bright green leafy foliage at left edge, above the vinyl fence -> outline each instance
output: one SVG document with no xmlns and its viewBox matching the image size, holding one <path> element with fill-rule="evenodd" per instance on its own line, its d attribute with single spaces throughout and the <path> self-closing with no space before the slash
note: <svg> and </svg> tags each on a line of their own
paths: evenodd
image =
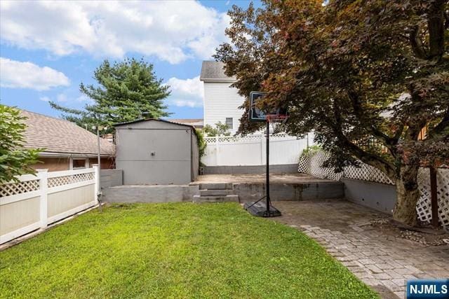
<svg viewBox="0 0 449 299">
<path fill-rule="evenodd" d="M 23 148 L 24 119 L 18 109 L 0 105 L 0 183 L 17 181 L 18 175 L 34 174 L 29 165 L 38 162 L 41 148 Z"/>
</svg>

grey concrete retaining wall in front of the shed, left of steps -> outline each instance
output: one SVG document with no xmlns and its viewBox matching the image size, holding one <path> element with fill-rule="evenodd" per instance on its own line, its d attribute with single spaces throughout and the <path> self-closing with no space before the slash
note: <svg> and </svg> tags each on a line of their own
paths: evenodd
<svg viewBox="0 0 449 299">
<path fill-rule="evenodd" d="M 182 202 L 199 195 L 199 186 L 123 185 L 102 190 L 105 202 Z"/>
</svg>

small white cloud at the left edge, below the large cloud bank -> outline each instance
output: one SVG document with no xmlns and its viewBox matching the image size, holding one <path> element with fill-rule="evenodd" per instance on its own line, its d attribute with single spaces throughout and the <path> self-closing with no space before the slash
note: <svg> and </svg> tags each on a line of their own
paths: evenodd
<svg viewBox="0 0 449 299">
<path fill-rule="evenodd" d="M 32 62 L 20 62 L 0 57 L 0 86 L 2 88 L 30 88 L 48 90 L 70 85 L 69 78 L 50 67 Z"/>
</svg>

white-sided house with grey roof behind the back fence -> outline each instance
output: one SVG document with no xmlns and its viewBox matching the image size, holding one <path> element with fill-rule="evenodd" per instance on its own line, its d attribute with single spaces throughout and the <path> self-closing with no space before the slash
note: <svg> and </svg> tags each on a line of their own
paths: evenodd
<svg viewBox="0 0 449 299">
<path fill-rule="evenodd" d="M 219 121 L 226 123 L 234 134 L 239 129 L 245 101 L 236 88 L 230 87 L 236 81 L 225 75 L 222 62 L 204 61 L 200 80 L 204 83 L 204 125 L 214 126 Z"/>
</svg>

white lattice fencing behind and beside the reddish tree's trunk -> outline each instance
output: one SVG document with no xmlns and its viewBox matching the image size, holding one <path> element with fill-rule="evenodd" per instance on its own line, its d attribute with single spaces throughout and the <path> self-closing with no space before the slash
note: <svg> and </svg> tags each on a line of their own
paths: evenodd
<svg viewBox="0 0 449 299">
<path fill-rule="evenodd" d="M 394 184 L 386 174 L 379 169 L 361 162 L 361 167 L 345 167 L 344 172 L 335 174 L 333 169 L 323 167 L 323 162 L 328 159 L 328 153 L 324 151 L 309 151 L 301 156 L 298 171 L 317 176 L 322 179 L 333 179 L 339 181 L 342 177 L 348 179 L 359 179 L 363 181 L 374 181 L 377 183 Z M 428 168 L 420 168 L 418 172 L 418 188 L 420 199 L 416 209 L 420 221 L 431 221 L 431 195 L 430 174 Z M 437 195 L 438 195 L 438 220 L 445 230 L 449 230 L 449 169 L 438 168 L 436 172 Z"/>
</svg>

